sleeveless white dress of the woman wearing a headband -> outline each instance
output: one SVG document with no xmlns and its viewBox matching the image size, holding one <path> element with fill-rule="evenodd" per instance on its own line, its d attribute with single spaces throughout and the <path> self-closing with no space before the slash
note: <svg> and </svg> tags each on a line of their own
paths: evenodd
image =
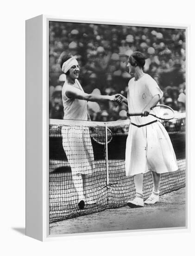
<svg viewBox="0 0 195 256">
<path fill-rule="evenodd" d="M 77 79 L 74 85 L 69 85 L 67 82 L 64 83 L 62 89 L 64 119 L 87 121 L 87 101 L 71 99 L 66 95 L 66 90 L 72 86 L 83 91 Z M 94 153 L 88 127 L 64 125 L 62 127 L 62 136 L 63 149 L 68 158 L 72 175 L 92 174 L 94 169 Z"/>
</svg>

